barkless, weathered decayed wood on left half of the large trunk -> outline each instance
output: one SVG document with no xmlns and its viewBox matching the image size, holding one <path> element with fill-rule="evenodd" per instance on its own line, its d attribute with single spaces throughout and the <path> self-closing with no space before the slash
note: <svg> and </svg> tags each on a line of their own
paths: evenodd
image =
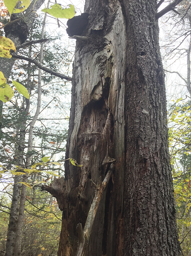
<svg viewBox="0 0 191 256">
<path fill-rule="evenodd" d="M 76 42 L 66 147 L 66 158 L 76 159 L 83 167 L 77 170 L 65 165 L 65 180 L 73 203 L 63 210 L 58 255 L 76 255 L 75 229 L 79 222 L 85 226 L 94 199 L 90 179 L 96 184 L 100 176 L 104 180 L 110 158 L 117 161 L 113 183 L 109 182 L 103 192 L 86 254 L 117 255 L 123 249 L 126 25 L 118 1 L 104 9 L 96 2 L 94 11 L 90 10 L 90 3 L 86 2 L 84 10 L 89 13 L 88 40 Z M 108 29 L 103 33 L 105 22 Z M 81 196 L 75 200 L 78 192 Z M 71 228 L 73 225 L 75 228 Z"/>
</svg>

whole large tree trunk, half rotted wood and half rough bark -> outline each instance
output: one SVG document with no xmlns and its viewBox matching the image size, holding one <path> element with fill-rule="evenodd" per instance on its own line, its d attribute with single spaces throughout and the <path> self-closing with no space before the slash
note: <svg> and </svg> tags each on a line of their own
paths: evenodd
<svg viewBox="0 0 191 256">
<path fill-rule="evenodd" d="M 63 210 L 58 255 L 178 256 L 156 1 L 86 0 L 85 12 L 66 150 L 83 167 L 66 162 L 65 179 L 44 188 Z M 115 170 L 88 238 L 93 182 L 104 180 L 110 159 Z"/>
</svg>

